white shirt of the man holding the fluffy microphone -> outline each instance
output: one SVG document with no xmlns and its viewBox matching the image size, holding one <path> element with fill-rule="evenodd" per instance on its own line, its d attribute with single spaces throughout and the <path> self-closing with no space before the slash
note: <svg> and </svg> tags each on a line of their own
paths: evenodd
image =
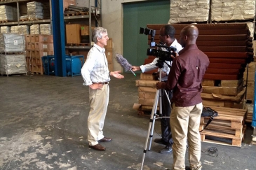
<svg viewBox="0 0 256 170">
<path fill-rule="evenodd" d="M 177 49 L 177 53 L 180 52 L 180 50 L 182 50 L 182 45 L 180 45 L 180 43 L 177 42 L 177 40 L 175 39 L 175 41 L 173 41 L 173 43 L 170 45 L 170 47 L 174 47 Z M 142 71 L 142 73 L 144 73 L 145 71 L 151 71 L 153 69 L 157 69 L 158 66 L 156 66 L 156 63 L 157 63 L 157 60 L 159 60 L 159 58 L 155 58 L 153 60 L 153 62 L 149 63 L 149 64 L 146 64 L 146 65 L 141 65 L 140 66 L 140 69 Z M 166 61 L 167 64 L 169 64 L 171 66 L 172 62 L 170 61 Z M 170 67 L 166 64 L 166 63 L 163 63 L 163 68 L 161 68 L 161 71 L 167 73 L 167 75 L 169 74 L 170 72 Z M 168 76 L 162 78 L 162 81 L 165 81 L 168 79 Z"/>
</svg>

